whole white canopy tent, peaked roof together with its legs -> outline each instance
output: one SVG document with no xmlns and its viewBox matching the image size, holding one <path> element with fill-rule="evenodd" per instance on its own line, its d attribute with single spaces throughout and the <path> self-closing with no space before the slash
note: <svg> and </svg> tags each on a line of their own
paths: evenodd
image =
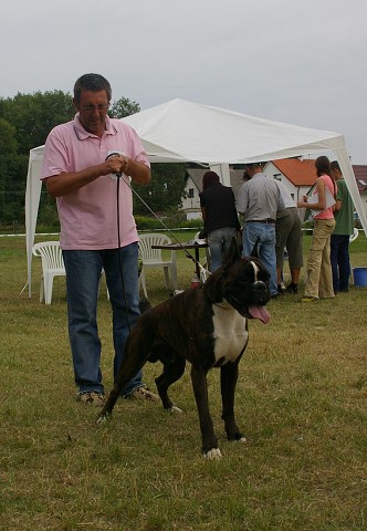
<svg viewBox="0 0 367 531">
<path fill-rule="evenodd" d="M 192 162 L 214 169 L 229 185 L 229 164 L 334 152 L 367 235 L 367 220 L 344 136 L 271 122 L 185 100 L 172 100 L 123 118 L 137 132 L 151 163 Z M 25 191 L 28 285 L 41 194 L 43 146 L 30 152 Z"/>
</svg>

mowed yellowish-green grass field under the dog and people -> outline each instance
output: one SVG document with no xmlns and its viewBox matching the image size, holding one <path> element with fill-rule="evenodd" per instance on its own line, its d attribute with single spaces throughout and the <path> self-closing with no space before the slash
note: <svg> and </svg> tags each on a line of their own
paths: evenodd
<svg viewBox="0 0 367 531">
<path fill-rule="evenodd" d="M 306 259 L 308 237 L 304 243 Z M 367 267 L 363 233 L 350 251 L 353 266 Z M 182 252 L 178 263 L 186 288 L 193 264 Z M 269 325 L 250 322 L 237 389 L 248 442 L 226 441 L 213 369 L 210 407 L 223 458 L 210 462 L 200 455 L 189 367 L 171 388 L 182 415 L 120 400 L 112 420 L 97 426 L 96 410 L 75 402 L 65 280 L 55 279 L 50 306 L 40 304 L 41 268 L 33 259 L 33 296 L 20 294 L 23 238 L 0 238 L 0 271 L 1 530 L 366 529 L 366 288 L 308 304 L 286 295 L 269 304 Z M 160 271 L 148 272 L 147 287 L 154 304 L 169 296 Z M 108 391 L 104 285 L 98 320 Z M 159 372 L 159 364 L 146 365 L 149 387 Z"/>
</svg>

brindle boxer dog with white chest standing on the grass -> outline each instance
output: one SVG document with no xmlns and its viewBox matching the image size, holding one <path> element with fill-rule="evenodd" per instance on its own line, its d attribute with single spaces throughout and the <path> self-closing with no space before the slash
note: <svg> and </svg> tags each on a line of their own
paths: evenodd
<svg viewBox="0 0 367 531">
<path fill-rule="evenodd" d="M 244 441 L 234 418 L 234 389 L 239 362 L 248 344 L 248 319 L 268 323 L 269 273 L 258 258 L 241 258 L 233 241 L 222 268 L 200 288 L 191 288 L 145 312 L 132 329 L 117 382 L 98 423 L 112 414 L 120 391 L 147 362 L 160 361 L 156 378 L 162 406 L 180 409 L 168 397 L 168 387 L 191 363 L 191 381 L 199 412 L 202 451 L 221 457 L 208 405 L 207 373 L 220 367 L 222 419 L 229 440 Z"/>
</svg>

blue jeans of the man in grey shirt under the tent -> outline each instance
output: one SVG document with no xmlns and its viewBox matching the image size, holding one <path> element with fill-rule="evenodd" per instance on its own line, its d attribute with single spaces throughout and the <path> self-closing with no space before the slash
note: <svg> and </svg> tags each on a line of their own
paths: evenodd
<svg viewBox="0 0 367 531">
<path fill-rule="evenodd" d="M 275 223 L 254 223 L 247 221 L 243 230 L 243 256 L 250 257 L 258 242 L 259 258 L 270 273 L 270 294 L 277 294 Z"/>
</svg>

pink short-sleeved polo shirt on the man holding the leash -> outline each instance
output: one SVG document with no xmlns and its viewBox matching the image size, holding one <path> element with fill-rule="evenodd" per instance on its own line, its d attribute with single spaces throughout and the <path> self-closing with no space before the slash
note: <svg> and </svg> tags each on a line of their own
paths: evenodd
<svg viewBox="0 0 367 531">
<path fill-rule="evenodd" d="M 84 129 L 76 114 L 72 122 L 57 125 L 49 134 L 41 179 L 95 166 L 103 163 L 112 152 L 123 152 L 133 160 L 150 167 L 137 133 L 127 124 L 107 116 L 106 129 L 99 138 Z M 76 191 L 57 197 L 56 200 L 62 249 L 96 250 L 118 247 L 115 175 L 101 176 Z M 133 216 L 133 194 L 123 179 L 119 180 L 119 228 L 122 247 L 138 241 Z"/>
</svg>

